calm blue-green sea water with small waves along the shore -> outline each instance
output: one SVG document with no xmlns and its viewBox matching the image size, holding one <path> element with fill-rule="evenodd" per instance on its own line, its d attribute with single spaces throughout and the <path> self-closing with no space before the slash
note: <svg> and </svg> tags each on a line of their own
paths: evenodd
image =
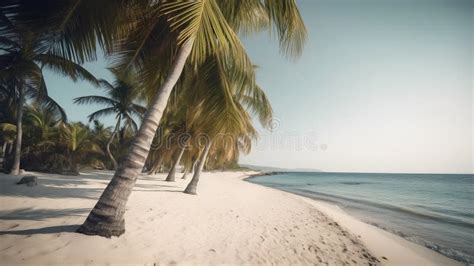
<svg viewBox="0 0 474 266">
<path fill-rule="evenodd" d="M 364 222 L 474 264 L 474 175 L 288 172 L 247 180 L 332 202 Z"/>
</svg>

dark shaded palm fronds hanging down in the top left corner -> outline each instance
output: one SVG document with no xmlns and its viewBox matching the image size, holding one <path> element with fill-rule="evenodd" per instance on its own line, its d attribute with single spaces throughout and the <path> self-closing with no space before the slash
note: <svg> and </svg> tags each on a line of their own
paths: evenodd
<svg viewBox="0 0 474 266">
<path fill-rule="evenodd" d="M 133 0 L 4 0 L 0 9 L 17 24 L 48 35 L 51 53 L 79 63 L 97 58 L 99 44 L 112 47 Z"/>
</svg>

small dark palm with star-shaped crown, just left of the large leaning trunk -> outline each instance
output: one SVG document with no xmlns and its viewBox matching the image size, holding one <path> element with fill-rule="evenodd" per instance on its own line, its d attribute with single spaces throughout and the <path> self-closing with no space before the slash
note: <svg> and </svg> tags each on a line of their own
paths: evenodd
<svg viewBox="0 0 474 266">
<path fill-rule="evenodd" d="M 139 98 L 140 90 L 138 83 L 134 80 L 131 73 L 123 74 L 117 70 L 112 69 L 111 72 L 115 75 L 114 84 L 110 84 L 106 80 L 100 80 L 100 84 L 105 89 L 108 97 L 99 95 L 82 96 L 74 99 L 76 104 L 101 104 L 106 107 L 90 114 L 89 121 L 99 119 L 102 116 L 115 115 L 115 128 L 106 145 L 106 151 L 109 159 L 113 163 L 113 169 L 118 168 L 110 145 L 117 135 L 122 121 L 125 125 L 131 127 L 133 130 L 138 129 L 138 125 L 134 117 L 141 118 L 146 111 L 146 108 L 137 104 L 136 100 Z"/>
</svg>

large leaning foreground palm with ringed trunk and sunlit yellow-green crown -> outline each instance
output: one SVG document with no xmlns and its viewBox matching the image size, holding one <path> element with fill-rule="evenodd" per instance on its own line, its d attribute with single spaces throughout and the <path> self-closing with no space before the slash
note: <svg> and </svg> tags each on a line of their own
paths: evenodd
<svg viewBox="0 0 474 266">
<path fill-rule="evenodd" d="M 253 1 L 247 2 L 251 5 Z M 181 76 L 188 57 L 190 67 L 192 65 L 198 67 L 209 55 L 218 54 L 222 67 L 225 67 L 226 62 L 232 61 L 240 73 L 253 71 L 250 60 L 234 31 L 238 30 L 239 25 L 246 24 L 242 14 L 244 10 L 240 5 L 232 6 L 233 12 L 221 10 L 230 8 L 229 6 L 231 5 L 225 1 L 202 0 L 154 2 L 151 8 L 142 9 L 141 12 L 150 12 L 141 16 L 143 21 L 130 31 L 130 41 L 124 42 L 126 45 L 121 50 L 125 52 L 120 53 L 119 57 L 125 63 L 121 66 L 134 66 L 140 69 L 149 86 L 161 81 L 152 77 L 165 72 L 162 65 L 170 66 L 168 74 L 164 76 L 153 97 L 135 141 L 122 161 L 122 167 L 117 169 L 78 232 L 110 237 L 119 236 L 125 231 L 123 217 L 126 202 L 142 171 L 171 90 Z M 294 1 L 268 0 L 263 4 L 255 1 L 250 10 L 256 11 L 252 14 L 261 12 L 269 18 L 272 25 L 277 28 L 283 47 L 296 47 L 296 51 L 300 50 L 304 40 L 304 27 Z M 251 23 L 253 21 L 247 25 Z M 137 38 L 140 38 L 140 41 L 137 41 Z M 159 43 L 156 44 L 156 40 L 159 40 Z M 135 49 L 130 49 L 130 46 L 134 46 Z M 291 54 L 294 50 L 286 51 Z M 163 64 L 157 64 L 159 61 L 155 58 L 170 61 L 165 60 Z M 150 62 L 154 62 L 159 68 L 153 67 Z"/>
</svg>

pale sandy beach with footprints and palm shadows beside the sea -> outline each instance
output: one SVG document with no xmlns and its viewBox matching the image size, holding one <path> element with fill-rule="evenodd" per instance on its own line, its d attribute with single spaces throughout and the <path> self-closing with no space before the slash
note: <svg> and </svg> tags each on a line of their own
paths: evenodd
<svg viewBox="0 0 474 266">
<path fill-rule="evenodd" d="M 242 181 L 249 173 L 188 180 L 144 176 L 126 213 L 126 233 L 74 233 L 111 178 L 37 174 L 15 185 L 0 174 L 0 261 L 9 264 L 450 265 L 453 260 L 362 223 L 335 206 Z"/>
</svg>

